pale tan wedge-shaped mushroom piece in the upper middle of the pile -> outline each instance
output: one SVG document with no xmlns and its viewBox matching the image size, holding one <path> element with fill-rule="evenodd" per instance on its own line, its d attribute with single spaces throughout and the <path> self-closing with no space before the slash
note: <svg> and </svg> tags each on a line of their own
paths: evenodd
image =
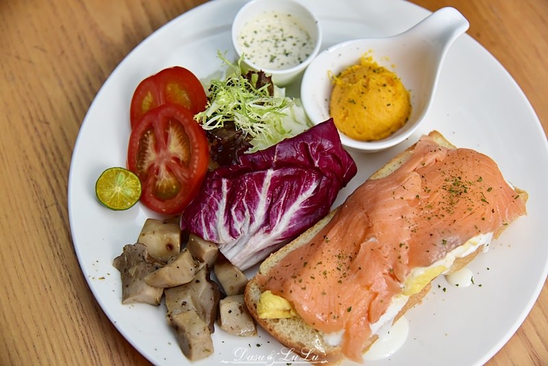
<svg viewBox="0 0 548 366">
<path fill-rule="evenodd" d="M 155 287 L 179 286 L 179 284 L 192 281 L 196 273 L 205 265 L 206 263 L 193 258 L 192 254 L 185 248 L 176 256 L 169 258 L 164 267 L 149 273 L 145 277 L 145 281 Z"/>
</svg>

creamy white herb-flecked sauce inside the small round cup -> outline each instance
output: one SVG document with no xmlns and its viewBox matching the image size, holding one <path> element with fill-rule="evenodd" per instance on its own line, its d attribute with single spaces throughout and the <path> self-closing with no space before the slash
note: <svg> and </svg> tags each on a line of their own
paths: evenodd
<svg viewBox="0 0 548 366">
<path fill-rule="evenodd" d="M 264 69 L 290 69 L 314 50 L 310 34 L 294 16 L 269 11 L 245 23 L 238 34 L 245 58 Z"/>
</svg>

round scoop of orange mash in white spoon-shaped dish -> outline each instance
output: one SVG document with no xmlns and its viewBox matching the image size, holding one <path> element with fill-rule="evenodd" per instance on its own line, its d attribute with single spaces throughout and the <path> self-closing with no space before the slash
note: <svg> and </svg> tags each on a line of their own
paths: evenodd
<svg viewBox="0 0 548 366">
<path fill-rule="evenodd" d="M 371 56 L 333 76 L 329 112 L 343 134 L 360 141 L 386 138 L 409 119 L 408 90 L 392 71 Z"/>
</svg>

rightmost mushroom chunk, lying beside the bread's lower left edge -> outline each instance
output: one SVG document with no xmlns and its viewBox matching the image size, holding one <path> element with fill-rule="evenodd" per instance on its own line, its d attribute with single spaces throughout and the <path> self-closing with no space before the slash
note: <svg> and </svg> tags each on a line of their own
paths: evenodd
<svg viewBox="0 0 548 366">
<path fill-rule="evenodd" d="M 245 306 L 244 295 L 227 296 L 219 302 L 219 326 L 240 337 L 257 335 L 255 322 Z"/>
</svg>

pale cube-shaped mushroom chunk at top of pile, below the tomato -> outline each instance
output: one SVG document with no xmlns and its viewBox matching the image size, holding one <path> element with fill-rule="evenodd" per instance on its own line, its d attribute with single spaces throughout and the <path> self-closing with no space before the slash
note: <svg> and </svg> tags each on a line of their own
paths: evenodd
<svg viewBox="0 0 548 366">
<path fill-rule="evenodd" d="M 181 251 L 181 229 L 177 223 L 147 219 L 137 241 L 147 245 L 151 256 L 167 262 Z"/>
</svg>

